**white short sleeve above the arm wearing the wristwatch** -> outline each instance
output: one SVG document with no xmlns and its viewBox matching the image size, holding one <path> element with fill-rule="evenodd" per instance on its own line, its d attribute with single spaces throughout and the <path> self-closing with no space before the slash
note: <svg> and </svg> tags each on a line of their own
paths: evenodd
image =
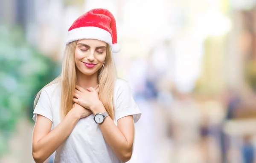
<svg viewBox="0 0 256 163">
<path fill-rule="evenodd" d="M 116 116 L 119 120 L 122 117 L 133 115 L 134 123 L 136 123 L 141 116 L 139 107 L 134 101 L 134 98 L 131 93 L 131 88 L 127 82 L 122 81 L 122 84 L 117 90 L 116 98 Z"/>
</svg>

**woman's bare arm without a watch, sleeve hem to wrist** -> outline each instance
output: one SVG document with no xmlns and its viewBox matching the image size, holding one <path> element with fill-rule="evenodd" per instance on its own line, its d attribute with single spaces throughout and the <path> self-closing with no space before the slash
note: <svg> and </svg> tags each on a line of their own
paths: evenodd
<svg viewBox="0 0 256 163">
<path fill-rule="evenodd" d="M 51 130 L 52 121 L 39 115 L 35 123 L 32 138 L 32 155 L 36 163 L 43 163 L 67 139 L 80 119 L 74 112 L 69 112 L 55 129 Z"/>
</svg>

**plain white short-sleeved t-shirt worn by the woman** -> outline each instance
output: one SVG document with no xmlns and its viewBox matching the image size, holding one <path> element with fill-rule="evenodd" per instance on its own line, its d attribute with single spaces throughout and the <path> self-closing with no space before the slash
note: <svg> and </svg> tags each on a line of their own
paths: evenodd
<svg viewBox="0 0 256 163">
<path fill-rule="evenodd" d="M 34 110 L 33 120 L 37 114 L 52 121 L 52 129 L 60 123 L 60 83 L 47 86 L 41 92 Z M 125 80 L 117 79 L 113 92 L 115 105 L 114 123 L 122 117 L 133 115 L 134 123 L 140 119 L 140 110 Z M 94 115 L 78 121 L 67 140 L 55 152 L 54 163 L 121 163 L 102 136 Z"/>
</svg>

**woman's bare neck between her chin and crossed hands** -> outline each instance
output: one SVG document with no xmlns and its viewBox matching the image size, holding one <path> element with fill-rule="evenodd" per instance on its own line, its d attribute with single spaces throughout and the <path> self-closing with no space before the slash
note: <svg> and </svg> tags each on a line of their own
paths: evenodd
<svg viewBox="0 0 256 163">
<path fill-rule="evenodd" d="M 92 75 L 85 75 L 81 73 L 81 71 L 76 71 L 76 78 L 78 85 L 81 86 L 83 89 L 89 88 L 89 87 L 96 87 L 98 84 L 98 73 L 94 73 Z"/>
</svg>

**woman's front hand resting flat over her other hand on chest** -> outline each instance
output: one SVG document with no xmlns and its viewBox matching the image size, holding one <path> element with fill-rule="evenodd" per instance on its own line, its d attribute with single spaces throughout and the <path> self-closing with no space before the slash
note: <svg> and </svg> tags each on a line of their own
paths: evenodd
<svg viewBox="0 0 256 163">
<path fill-rule="evenodd" d="M 101 103 L 99 100 L 99 88 L 94 89 L 93 87 L 83 89 L 81 86 L 76 85 L 73 101 L 86 109 L 90 109 L 93 106 Z"/>
</svg>

